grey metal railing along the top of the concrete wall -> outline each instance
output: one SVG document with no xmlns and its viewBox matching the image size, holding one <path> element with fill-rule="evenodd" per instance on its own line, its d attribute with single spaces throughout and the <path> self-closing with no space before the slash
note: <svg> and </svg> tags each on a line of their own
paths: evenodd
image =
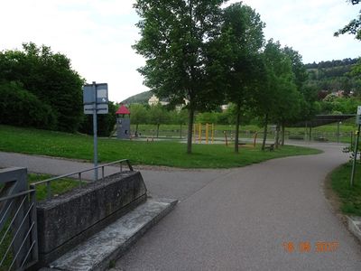
<svg viewBox="0 0 361 271">
<path fill-rule="evenodd" d="M 106 168 L 106 166 L 112 166 L 114 164 L 119 164 L 119 172 L 120 173 L 123 172 L 123 164 L 126 164 L 128 166 L 128 168 L 129 168 L 129 170 L 133 172 L 133 167 L 130 164 L 129 160 L 128 159 L 122 159 L 122 160 L 118 160 L 116 162 L 112 162 L 112 163 L 108 163 L 108 164 L 101 164 L 101 165 L 98 165 L 97 167 L 92 167 L 92 168 L 82 170 L 82 171 L 79 171 L 79 172 L 63 174 L 63 175 L 52 177 L 52 178 L 49 178 L 49 179 L 46 179 L 46 180 L 43 180 L 43 181 L 39 181 L 39 182 L 32 182 L 30 184 L 30 188 L 35 190 L 37 185 L 46 184 L 46 187 L 47 187 L 46 188 L 46 190 L 47 190 L 47 199 L 50 199 L 51 198 L 51 182 L 52 181 L 57 181 L 57 180 L 60 180 L 60 179 L 63 179 L 63 178 L 67 178 L 67 177 L 77 175 L 78 180 L 79 180 L 79 187 L 81 187 L 83 173 L 96 171 L 97 169 L 101 169 L 101 180 L 104 181 L 104 178 L 106 177 L 105 176 L 105 168 Z M 97 176 L 97 174 L 96 174 L 96 176 Z M 95 181 L 97 181 L 97 179 Z"/>
</svg>

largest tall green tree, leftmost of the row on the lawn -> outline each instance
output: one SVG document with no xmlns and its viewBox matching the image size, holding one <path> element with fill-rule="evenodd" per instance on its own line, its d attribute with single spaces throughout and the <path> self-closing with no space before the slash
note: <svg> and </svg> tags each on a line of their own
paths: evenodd
<svg viewBox="0 0 361 271">
<path fill-rule="evenodd" d="M 219 101 L 212 83 L 221 73 L 210 51 L 221 22 L 220 5 L 226 0 L 137 0 L 137 23 L 142 35 L 134 49 L 146 58 L 139 71 L 144 83 L 171 104 L 190 101 L 187 153 L 191 153 L 192 126 L 196 110 Z M 211 75 L 211 76 L 210 76 Z M 213 81 L 211 79 L 214 79 Z"/>
</svg>

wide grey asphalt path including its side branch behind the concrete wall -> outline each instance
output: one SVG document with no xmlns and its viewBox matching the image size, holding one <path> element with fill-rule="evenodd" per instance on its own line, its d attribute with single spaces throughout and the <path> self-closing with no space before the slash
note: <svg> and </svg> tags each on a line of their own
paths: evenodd
<svg viewBox="0 0 361 271">
<path fill-rule="evenodd" d="M 327 173 L 347 155 L 340 145 L 311 146 L 324 153 L 232 170 L 142 171 L 154 196 L 180 203 L 114 270 L 361 270 L 361 246 L 323 194 Z M 11 165 L 56 174 L 90 166 L 0 153 L 0 166 Z M 291 242 L 288 252 L 283 245 Z M 338 248 L 316 252 L 318 242 Z M 310 251 L 301 252 L 300 243 Z"/>
</svg>

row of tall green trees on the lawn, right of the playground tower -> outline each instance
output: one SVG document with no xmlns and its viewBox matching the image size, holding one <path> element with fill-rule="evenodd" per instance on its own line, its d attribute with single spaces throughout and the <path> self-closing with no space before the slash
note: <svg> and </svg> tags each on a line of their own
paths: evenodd
<svg viewBox="0 0 361 271">
<path fill-rule="evenodd" d="M 265 42 L 264 23 L 254 9 L 242 3 L 224 8 L 225 3 L 138 0 L 134 5 L 142 35 L 134 49 L 146 59 L 139 69 L 145 85 L 173 105 L 190 101 L 188 153 L 196 112 L 233 103 L 237 153 L 242 116 L 261 117 L 264 136 L 267 124 L 275 123 L 282 137 L 284 126 L 310 118 L 316 109 L 317 93 L 304 84 L 308 75 L 301 55 L 280 42 Z"/>
</svg>

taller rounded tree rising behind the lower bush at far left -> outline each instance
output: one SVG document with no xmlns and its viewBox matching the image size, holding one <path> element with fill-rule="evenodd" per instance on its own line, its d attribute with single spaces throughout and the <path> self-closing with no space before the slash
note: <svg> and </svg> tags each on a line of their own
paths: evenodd
<svg viewBox="0 0 361 271">
<path fill-rule="evenodd" d="M 83 79 L 69 58 L 48 46 L 24 43 L 23 51 L 0 52 L 0 81 L 16 81 L 51 107 L 61 131 L 75 132 L 82 120 Z M 26 113 L 26 112 L 24 112 Z"/>
</svg>

